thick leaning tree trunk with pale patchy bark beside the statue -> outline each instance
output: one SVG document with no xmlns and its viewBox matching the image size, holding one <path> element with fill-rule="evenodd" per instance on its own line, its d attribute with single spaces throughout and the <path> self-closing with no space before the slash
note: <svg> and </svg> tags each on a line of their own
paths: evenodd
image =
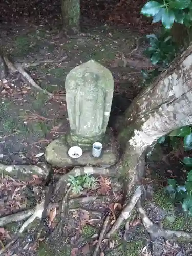
<svg viewBox="0 0 192 256">
<path fill-rule="evenodd" d="M 192 124 L 192 44 L 144 89 L 125 112 L 119 134 L 121 174 L 130 191 L 142 175 L 143 152 L 161 136 Z M 138 173 L 138 171 L 140 172 Z"/>
</svg>

